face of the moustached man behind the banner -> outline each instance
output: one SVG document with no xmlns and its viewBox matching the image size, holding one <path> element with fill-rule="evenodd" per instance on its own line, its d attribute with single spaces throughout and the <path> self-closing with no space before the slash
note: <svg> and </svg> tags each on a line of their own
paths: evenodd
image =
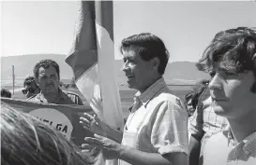
<svg viewBox="0 0 256 165">
<path fill-rule="evenodd" d="M 38 68 L 38 86 L 44 94 L 56 94 L 58 92 L 59 76 L 52 65 L 49 68 Z"/>
</svg>

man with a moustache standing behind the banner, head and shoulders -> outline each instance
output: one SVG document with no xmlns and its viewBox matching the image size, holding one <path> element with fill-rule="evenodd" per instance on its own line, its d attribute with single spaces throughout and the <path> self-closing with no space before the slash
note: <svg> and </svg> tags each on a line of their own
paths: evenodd
<svg viewBox="0 0 256 165">
<path fill-rule="evenodd" d="M 34 67 L 34 76 L 41 91 L 27 101 L 36 103 L 83 104 L 77 94 L 60 89 L 60 69 L 53 60 L 42 60 Z"/>
</svg>

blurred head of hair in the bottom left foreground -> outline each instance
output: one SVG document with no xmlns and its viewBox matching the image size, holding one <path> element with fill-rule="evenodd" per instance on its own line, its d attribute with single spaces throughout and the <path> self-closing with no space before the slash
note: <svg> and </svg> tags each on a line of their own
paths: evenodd
<svg viewBox="0 0 256 165">
<path fill-rule="evenodd" d="M 2 165 L 87 165 L 96 158 L 36 117 L 1 103 Z M 97 162 L 96 162 L 97 161 Z"/>
</svg>

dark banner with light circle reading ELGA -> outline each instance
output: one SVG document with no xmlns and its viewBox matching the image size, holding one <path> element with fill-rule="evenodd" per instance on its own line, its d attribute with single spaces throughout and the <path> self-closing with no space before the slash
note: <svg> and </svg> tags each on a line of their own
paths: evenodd
<svg viewBox="0 0 256 165">
<path fill-rule="evenodd" d="M 22 100 L 1 98 L 1 105 L 8 104 L 15 110 L 23 111 L 40 121 L 60 131 L 68 141 L 81 146 L 84 144 L 84 137 L 93 136 L 93 133 L 83 129 L 79 123 L 79 117 L 83 113 L 94 114 L 88 105 L 58 105 L 52 103 L 30 103 Z"/>
</svg>

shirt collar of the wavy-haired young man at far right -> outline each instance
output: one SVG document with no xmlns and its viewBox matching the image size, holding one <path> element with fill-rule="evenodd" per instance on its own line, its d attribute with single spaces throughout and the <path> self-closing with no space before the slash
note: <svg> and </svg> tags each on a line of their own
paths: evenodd
<svg viewBox="0 0 256 165">
<path fill-rule="evenodd" d="M 225 135 L 226 138 L 228 138 L 228 145 L 233 144 L 233 145 L 239 145 L 243 143 L 243 151 L 246 156 L 248 156 L 252 151 L 256 151 L 256 131 L 248 135 L 242 142 L 239 144 L 235 144 L 233 140 L 233 134 L 231 131 L 231 128 L 227 128 L 226 130 L 222 131 L 223 134 Z"/>
</svg>

